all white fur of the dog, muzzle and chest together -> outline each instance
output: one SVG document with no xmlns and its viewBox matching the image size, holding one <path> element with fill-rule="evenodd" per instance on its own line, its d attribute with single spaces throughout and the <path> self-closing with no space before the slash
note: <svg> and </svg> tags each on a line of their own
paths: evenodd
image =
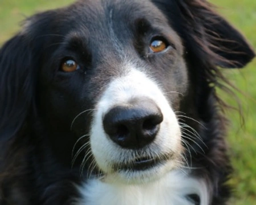
<svg viewBox="0 0 256 205">
<path fill-rule="evenodd" d="M 160 87 L 143 69 L 125 68 L 125 75 L 117 77 L 105 89 L 96 105 L 90 133 L 92 154 L 97 166 L 103 171 L 101 179 L 91 178 L 78 187 L 82 199 L 76 205 L 193 205 L 186 196 L 197 194 L 201 205 L 209 204 L 206 182 L 189 177 L 177 169 L 180 159 L 170 158 L 161 165 L 143 171 L 112 170 L 112 165 L 133 160 L 134 151 L 123 149 L 107 136 L 103 129 L 103 117 L 115 105 L 131 99 L 151 99 L 164 114 L 155 141 L 144 148 L 144 153 L 160 156 L 176 153 L 180 156 L 181 131 L 177 118 Z"/>
</svg>

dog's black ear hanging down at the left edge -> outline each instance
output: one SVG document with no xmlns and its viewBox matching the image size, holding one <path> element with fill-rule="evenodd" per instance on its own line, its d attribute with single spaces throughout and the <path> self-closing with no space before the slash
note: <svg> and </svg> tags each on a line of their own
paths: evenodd
<svg viewBox="0 0 256 205">
<path fill-rule="evenodd" d="M 0 142 L 14 137 L 35 113 L 35 87 L 44 36 L 54 10 L 35 14 L 0 50 Z"/>
</svg>

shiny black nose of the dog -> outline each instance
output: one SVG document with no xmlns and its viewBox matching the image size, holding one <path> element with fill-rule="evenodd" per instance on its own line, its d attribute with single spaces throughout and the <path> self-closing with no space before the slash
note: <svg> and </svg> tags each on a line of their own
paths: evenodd
<svg viewBox="0 0 256 205">
<path fill-rule="evenodd" d="M 117 145 L 139 149 L 155 139 L 162 120 L 161 110 L 155 102 L 136 99 L 109 110 L 103 118 L 103 126 L 105 133 Z"/>
</svg>

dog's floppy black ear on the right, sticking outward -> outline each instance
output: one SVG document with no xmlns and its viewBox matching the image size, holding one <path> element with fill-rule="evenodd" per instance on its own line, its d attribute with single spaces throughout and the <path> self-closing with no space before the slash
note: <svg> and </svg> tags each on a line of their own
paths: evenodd
<svg viewBox="0 0 256 205">
<path fill-rule="evenodd" d="M 186 34 L 194 40 L 193 50 L 204 52 L 213 64 L 241 68 L 254 58 L 245 38 L 204 0 L 178 0 Z M 189 40 L 190 40 L 189 39 Z M 205 56 L 205 55 L 201 55 Z"/>
</svg>

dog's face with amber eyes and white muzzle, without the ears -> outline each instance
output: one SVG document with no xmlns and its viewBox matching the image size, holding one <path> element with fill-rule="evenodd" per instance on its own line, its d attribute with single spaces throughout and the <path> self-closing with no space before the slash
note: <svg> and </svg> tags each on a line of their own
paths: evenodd
<svg viewBox="0 0 256 205">
<path fill-rule="evenodd" d="M 84 136 L 109 178 L 173 169 L 182 151 L 175 110 L 189 85 L 181 39 L 148 1 L 89 1 L 72 14 L 40 68 L 39 110 L 51 130 Z"/>
</svg>

